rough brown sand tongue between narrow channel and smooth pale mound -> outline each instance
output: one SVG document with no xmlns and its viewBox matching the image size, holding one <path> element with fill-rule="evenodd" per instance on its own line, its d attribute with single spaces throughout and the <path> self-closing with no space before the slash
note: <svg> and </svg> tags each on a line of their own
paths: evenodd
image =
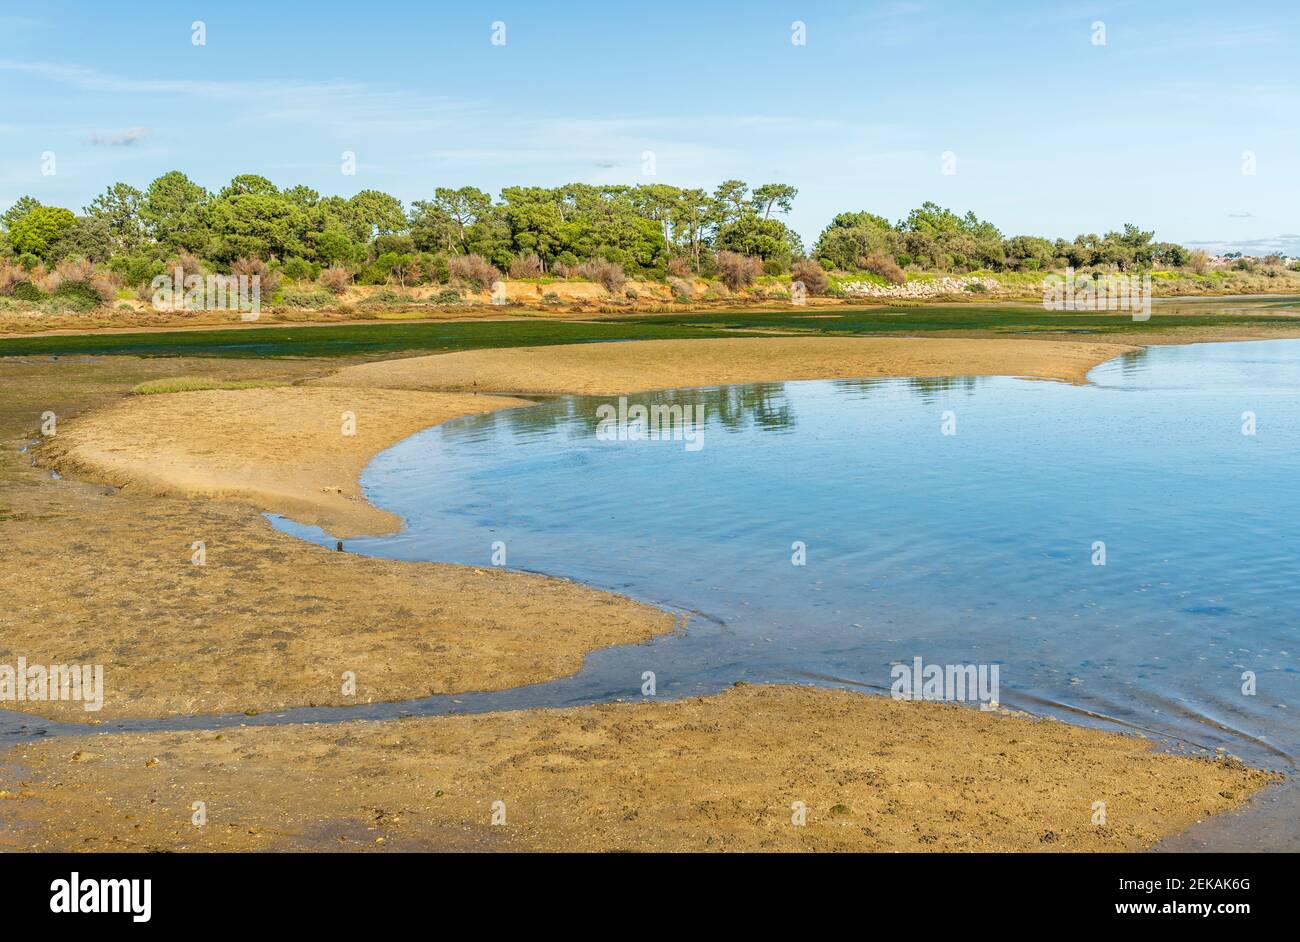
<svg viewBox="0 0 1300 942">
<path fill-rule="evenodd" d="M 66 722 L 506 690 L 676 625 L 562 579 L 332 552 L 239 505 L 99 491 L 74 520 L 13 530 L 0 551 L 0 663 L 103 664 L 105 698 L 95 713 L 0 708 Z M 194 541 L 205 565 L 191 563 Z"/>
</svg>

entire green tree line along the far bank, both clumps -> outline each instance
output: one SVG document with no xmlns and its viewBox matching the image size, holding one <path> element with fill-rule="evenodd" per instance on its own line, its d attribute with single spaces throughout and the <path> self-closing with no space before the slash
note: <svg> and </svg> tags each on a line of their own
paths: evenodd
<svg viewBox="0 0 1300 942">
<path fill-rule="evenodd" d="M 889 222 L 870 212 L 836 216 L 811 251 L 785 223 L 798 191 L 785 183 L 750 187 L 725 181 L 711 192 L 662 183 L 641 186 L 436 187 L 404 207 L 378 190 L 321 196 L 307 186 L 280 188 L 242 174 L 211 192 L 183 173 L 144 190 L 114 183 L 81 213 L 23 196 L 0 216 L 0 255 L 32 268 L 84 259 L 127 283 L 148 281 L 169 259 L 194 256 L 217 270 L 259 259 L 291 278 L 322 269 L 361 282 L 446 281 L 458 257 L 521 275 L 576 274 L 593 262 L 634 277 L 714 275 L 724 253 L 746 256 L 767 274 L 812 260 L 827 270 L 913 266 L 968 272 L 1109 266 L 1183 266 L 1193 253 L 1121 233 L 1072 242 L 1006 238 L 974 213 L 933 203 Z"/>
</svg>

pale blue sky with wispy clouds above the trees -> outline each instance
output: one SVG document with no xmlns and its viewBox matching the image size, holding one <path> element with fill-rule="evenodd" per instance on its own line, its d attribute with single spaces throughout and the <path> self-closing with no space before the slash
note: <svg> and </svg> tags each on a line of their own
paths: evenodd
<svg viewBox="0 0 1300 942">
<path fill-rule="evenodd" d="M 1297 40 L 1295 0 L 4 3 L 0 205 L 172 169 L 407 203 L 734 177 L 797 186 L 807 243 L 932 199 L 1008 235 L 1132 221 L 1300 253 Z"/>
</svg>

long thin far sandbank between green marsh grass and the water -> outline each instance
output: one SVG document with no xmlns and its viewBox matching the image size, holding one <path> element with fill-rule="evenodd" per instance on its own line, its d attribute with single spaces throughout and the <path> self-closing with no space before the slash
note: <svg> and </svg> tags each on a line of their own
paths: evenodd
<svg viewBox="0 0 1300 942">
<path fill-rule="evenodd" d="M 473 350 L 350 366 L 321 386 L 558 395 L 870 377 L 1018 376 L 1083 382 L 1118 343 L 937 338 L 723 338 Z"/>
</svg>

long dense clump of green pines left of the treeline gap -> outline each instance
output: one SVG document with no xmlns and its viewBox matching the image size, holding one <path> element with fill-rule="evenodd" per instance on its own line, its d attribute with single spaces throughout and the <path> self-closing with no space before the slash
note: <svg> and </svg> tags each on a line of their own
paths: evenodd
<svg viewBox="0 0 1300 942">
<path fill-rule="evenodd" d="M 296 282 L 334 269 L 361 285 L 403 287 L 451 281 L 481 287 L 502 272 L 568 278 L 594 264 L 618 268 L 602 281 L 621 283 L 625 275 L 664 278 L 673 260 L 707 272 L 714 246 L 784 272 L 802 247 L 775 214 L 789 212 L 796 192 L 784 183 L 750 192 L 740 181 L 711 195 L 664 185 L 572 183 L 506 187 L 494 200 L 474 187 L 436 187 L 408 212 L 377 190 L 321 196 L 243 174 L 213 194 L 170 172 L 143 191 L 114 183 L 81 216 L 25 196 L 0 217 L 0 256 L 25 257 L 29 266 L 81 257 L 107 265 L 131 287 L 176 259 L 216 273 L 261 260 Z"/>
</svg>

